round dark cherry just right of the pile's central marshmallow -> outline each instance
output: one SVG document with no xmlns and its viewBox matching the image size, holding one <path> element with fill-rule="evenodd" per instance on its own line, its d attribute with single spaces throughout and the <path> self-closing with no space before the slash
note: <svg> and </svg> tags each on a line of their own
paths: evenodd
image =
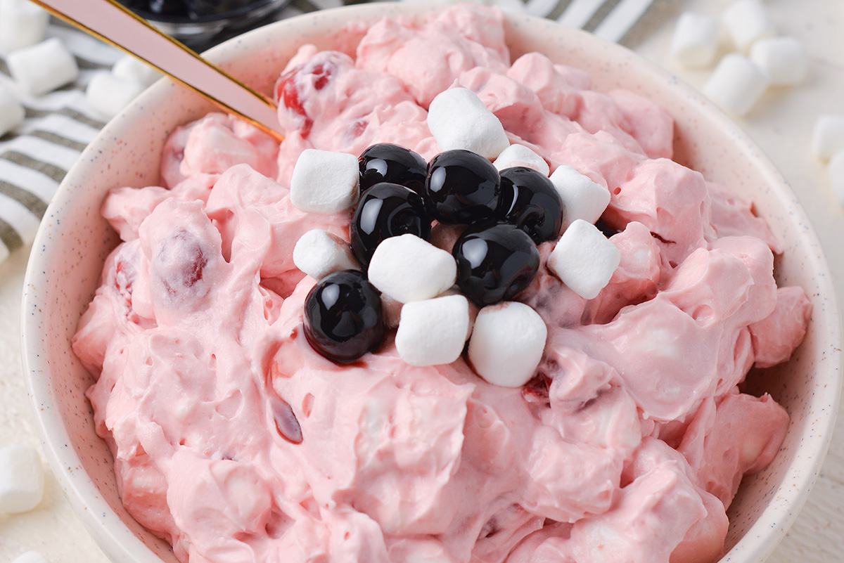
<svg viewBox="0 0 844 563">
<path fill-rule="evenodd" d="M 452 255 L 457 260 L 457 285 L 481 307 L 516 297 L 539 268 L 536 244 L 509 223 L 470 225 L 457 239 Z"/>
</svg>

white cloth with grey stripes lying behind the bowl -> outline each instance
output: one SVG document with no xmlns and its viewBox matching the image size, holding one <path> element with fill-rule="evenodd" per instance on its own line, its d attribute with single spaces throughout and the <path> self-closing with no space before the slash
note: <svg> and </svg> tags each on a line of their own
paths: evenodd
<svg viewBox="0 0 844 563">
<path fill-rule="evenodd" d="M 366 0 L 363 0 L 366 1 Z M 587 29 L 603 39 L 621 40 L 653 0 L 477 0 L 503 9 L 558 19 Z M 299 13 L 333 8 L 361 0 L 292 0 L 278 13 L 287 18 Z M 441 3 L 452 3 L 442 0 Z M 48 37 L 60 38 L 76 56 L 78 80 L 40 97 L 20 93 L 0 57 L 0 83 L 18 95 L 24 105 L 24 123 L 0 137 L 0 261 L 25 249 L 47 204 L 66 171 L 84 147 L 105 125 L 85 99 L 84 89 L 95 72 L 111 68 L 122 51 L 52 20 Z"/>
</svg>

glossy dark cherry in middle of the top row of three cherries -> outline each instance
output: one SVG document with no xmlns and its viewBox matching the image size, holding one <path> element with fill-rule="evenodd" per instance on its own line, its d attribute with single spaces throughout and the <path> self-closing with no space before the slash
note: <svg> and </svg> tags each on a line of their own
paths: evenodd
<svg viewBox="0 0 844 563">
<path fill-rule="evenodd" d="M 441 223 L 468 224 L 494 218 L 500 194 L 498 170 L 479 154 L 446 151 L 428 165 L 425 202 Z"/>
</svg>

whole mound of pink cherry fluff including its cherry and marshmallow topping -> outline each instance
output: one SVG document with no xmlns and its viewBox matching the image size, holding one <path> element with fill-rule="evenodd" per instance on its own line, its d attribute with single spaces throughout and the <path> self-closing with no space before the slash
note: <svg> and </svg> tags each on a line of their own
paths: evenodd
<svg viewBox="0 0 844 563">
<path fill-rule="evenodd" d="M 744 393 L 811 304 L 673 121 L 459 6 L 350 25 L 212 113 L 73 351 L 122 502 L 192 563 L 711 563 L 788 416 Z"/>
</svg>

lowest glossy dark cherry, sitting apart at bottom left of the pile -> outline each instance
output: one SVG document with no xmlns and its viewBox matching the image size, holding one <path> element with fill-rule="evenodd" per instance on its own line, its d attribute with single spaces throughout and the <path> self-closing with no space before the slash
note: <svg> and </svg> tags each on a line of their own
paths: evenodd
<svg viewBox="0 0 844 563">
<path fill-rule="evenodd" d="M 334 362 L 354 362 L 375 350 L 384 338 L 378 290 L 357 270 L 323 277 L 305 298 L 305 337 Z"/>
</svg>

